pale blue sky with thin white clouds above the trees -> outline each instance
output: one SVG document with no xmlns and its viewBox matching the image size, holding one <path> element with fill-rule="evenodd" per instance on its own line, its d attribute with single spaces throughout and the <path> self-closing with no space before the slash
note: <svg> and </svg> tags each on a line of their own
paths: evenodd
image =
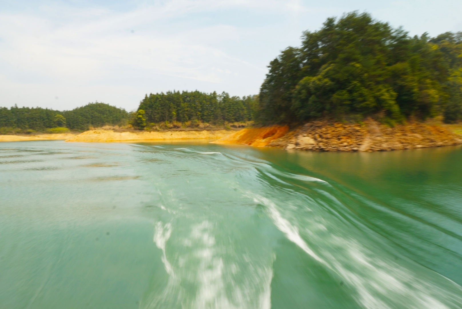
<svg viewBox="0 0 462 309">
<path fill-rule="evenodd" d="M 136 110 L 145 94 L 257 94 L 303 31 L 358 10 L 411 35 L 462 31 L 461 0 L 0 0 L 0 106 Z"/>
</svg>

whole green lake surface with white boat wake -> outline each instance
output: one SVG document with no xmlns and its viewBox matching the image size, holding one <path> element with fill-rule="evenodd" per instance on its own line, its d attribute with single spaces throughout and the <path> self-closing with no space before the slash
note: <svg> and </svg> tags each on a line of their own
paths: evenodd
<svg viewBox="0 0 462 309">
<path fill-rule="evenodd" d="M 0 144 L 0 308 L 462 308 L 462 148 Z"/>
</svg>

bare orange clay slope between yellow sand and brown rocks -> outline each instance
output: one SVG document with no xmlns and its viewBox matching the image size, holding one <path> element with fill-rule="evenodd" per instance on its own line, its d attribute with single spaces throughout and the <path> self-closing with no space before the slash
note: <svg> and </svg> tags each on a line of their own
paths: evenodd
<svg viewBox="0 0 462 309">
<path fill-rule="evenodd" d="M 285 136 L 289 131 L 288 126 L 274 125 L 265 128 L 242 129 L 236 133 L 219 139 L 217 144 L 245 144 L 255 147 L 265 147 L 277 138 Z"/>
</svg>

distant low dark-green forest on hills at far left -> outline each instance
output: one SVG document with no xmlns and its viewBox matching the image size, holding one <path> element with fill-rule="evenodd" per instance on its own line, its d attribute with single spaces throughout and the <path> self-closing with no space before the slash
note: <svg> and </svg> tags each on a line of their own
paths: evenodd
<svg viewBox="0 0 462 309">
<path fill-rule="evenodd" d="M 124 124 L 128 112 L 104 103 L 89 103 L 72 111 L 13 106 L 0 107 L 0 133 L 46 131 L 56 127 L 87 130 L 90 126 Z"/>
</svg>

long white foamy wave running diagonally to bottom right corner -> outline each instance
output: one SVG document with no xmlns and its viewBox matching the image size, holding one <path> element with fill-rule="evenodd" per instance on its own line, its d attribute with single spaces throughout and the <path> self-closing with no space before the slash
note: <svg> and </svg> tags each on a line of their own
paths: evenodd
<svg viewBox="0 0 462 309">
<path fill-rule="evenodd" d="M 460 308 L 462 288 L 449 279 L 435 273 L 422 279 L 421 275 L 403 268 L 386 256 L 379 258 L 365 247 L 367 244 L 336 235 L 331 226 L 323 226 L 329 232 L 327 237 L 326 233 L 321 237 L 309 231 L 315 224 L 305 227 L 307 235 L 311 235 L 310 241 L 316 245 L 315 252 L 302 238 L 296 220 L 291 222 L 285 218 L 276 203 L 252 192 L 247 192 L 247 196 L 267 207 L 274 225 L 289 241 L 351 286 L 356 291 L 356 300 L 364 308 Z M 438 285 L 432 284 L 435 281 Z"/>
</svg>

